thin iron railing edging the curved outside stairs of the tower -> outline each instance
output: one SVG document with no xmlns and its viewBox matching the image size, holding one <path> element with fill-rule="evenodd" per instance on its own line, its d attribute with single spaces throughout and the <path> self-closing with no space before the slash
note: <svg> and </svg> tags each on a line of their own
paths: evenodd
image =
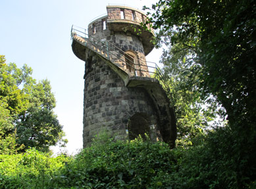
<svg viewBox="0 0 256 189">
<path fill-rule="evenodd" d="M 78 30 L 78 28 L 80 30 Z M 86 33 L 86 29 L 72 25 L 71 38 L 73 40 L 77 40 L 77 39 L 75 39 L 75 36 L 82 37 L 82 39 L 84 40 L 84 45 L 90 46 L 89 44 L 91 43 L 91 45 L 93 45 L 94 47 L 97 47 L 97 49 L 99 49 L 103 53 L 107 54 L 107 56 L 105 58 L 107 58 L 110 61 L 114 59 L 114 58 L 112 58 L 113 56 L 116 59 L 121 60 L 120 57 L 122 57 L 122 56 L 124 56 L 124 54 L 126 54 L 126 52 L 122 51 L 122 49 L 120 49 L 119 47 L 116 47 L 116 45 L 114 45 L 113 43 L 109 43 L 109 41 L 107 41 L 106 39 L 99 40 L 92 36 L 89 37 L 89 35 Z M 90 48 L 90 49 L 95 51 L 95 49 L 92 49 L 92 48 Z M 126 54 L 126 56 L 130 56 L 130 55 Z M 155 79 L 161 81 L 161 83 L 164 85 L 166 91 L 168 91 L 168 95 L 170 95 L 170 98 L 172 98 L 172 93 L 170 93 L 170 87 L 168 86 L 168 83 L 165 79 L 165 75 L 161 71 L 161 68 L 159 68 L 159 66 L 157 66 L 157 64 L 155 62 L 138 60 L 132 56 L 130 56 L 130 58 L 133 60 L 136 60 L 138 62 L 145 63 L 145 64 L 134 64 L 134 62 L 132 62 L 132 60 L 130 60 L 129 58 L 127 60 L 130 61 L 130 64 L 129 64 L 129 62 L 127 62 L 127 60 L 125 61 L 125 63 L 128 64 L 134 70 L 134 76 L 136 76 L 136 71 L 147 72 L 147 73 L 149 73 L 149 75 L 154 74 L 153 77 L 155 77 Z M 124 61 L 124 60 L 121 60 L 121 61 Z M 149 66 L 149 64 L 151 66 Z M 147 70 L 136 69 L 136 66 L 147 67 Z M 153 70 L 153 71 L 151 71 L 151 70 Z"/>
</svg>

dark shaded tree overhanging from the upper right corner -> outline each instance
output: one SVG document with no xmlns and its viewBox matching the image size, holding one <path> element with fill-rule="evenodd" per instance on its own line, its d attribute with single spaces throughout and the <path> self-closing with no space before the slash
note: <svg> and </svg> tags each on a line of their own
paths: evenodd
<svg viewBox="0 0 256 189">
<path fill-rule="evenodd" d="M 157 39 L 170 45 L 177 66 L 195 66 L 202 96 L 217 97 L 230 125 L 255 125 L 254 1 L 159 1 L 152 8 Z"/>
</svg>

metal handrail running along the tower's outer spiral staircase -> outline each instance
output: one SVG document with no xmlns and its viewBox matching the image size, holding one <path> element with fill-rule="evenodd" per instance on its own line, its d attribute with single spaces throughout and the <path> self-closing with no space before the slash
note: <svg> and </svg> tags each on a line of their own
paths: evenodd
<svg viewBox="0 0 256 189">
<path fill-rule="evenodd" d="M 80 28 L 80 29 L 84 30 L 85 32 L 84 32 L 84 31 L 77 30 L 77 29 L 75 29 L 74 27 Z M 78 33 L 82 33 L 82 35 L 84 35 L 84 36 L 77 34 L 76 31 L 77 31 Z M 101 41 L 101 40 L 99 40 L 99 39 L 96 39 L 95 37 L 92 37 L 92 36 L 89 37 L 89 35 L 86 33 L 86 29 L 81 28 L 81 27 L 79 27 L 79 26 L 74 26 L 74 25 L 72 25 L 72 28 L 71 28 L 71 38 L 72 38 L 72 39 L 74 39 L 74 35 L 77 35 L 77 36 L 79 36 L 79 37 L 84 38 L 85 41 L 86 41 L 86 40 L 87 40 L 87 41 L 90 41 L 90 43 L 91 43 L 92 45 L 94 45 L 95 47 L 99 47 L 99 49 L 101 49 L 101 50 L 107 51 L 107 52 L 106 52 L 106 53 L 107 53 L 107 58 L 108 58 L 109 60 L 110 60 L 109 54 L 111 54 L 111 55 L 115 56 L 116 58 L 118 58 L 118 56 L 116 56 L 116 54 L 112 53 L 111 51 L 115 51 L 115 53 L 117 53 L 117 54 L 119 54 L 119 55 L 121 55 L 121 56 L 123 56 L 123 55 L 125 54 L 125 52 L 122 51 L 122 49 L 120 49 L 119 47 L 116 47 L 116 45 L 114 45 L 113 43 L 109 43 L 108 41 L 105 41 L 105 43 L 104 43 L 103 41 Z M 118 49 L 118 51 L 116 51 L 115 49 Z M 123 54 L 119 53 L 119 51 L 121 51 Z M 130 56 L 129 54 L 127 54 L 127 55 Z M 138 59 L 135 59 L 135 58 L 132 57 L 132 56 L 130 56 L 130 57 L 131 57 L 132 59 L 134 59 L 134 60 L 138 60 Z M 120 59 L 120 58 L 118 58 L 118 59 Z M 134 64 L 134 62 L 132 62 L 132 60 L 128 60 L 128 61 L 130 61 L 132 64 Z M 168 93 L 169 93 L 169 95 L 170 95 L 170 98 L 172 98 L 172 93 L 170 93 L 170 87 L 168 86 L 168 83 L 167 83 L 167 81 L 166 81 L 166 79 L 165 79 L 165 75 L 164 75 L 163 72 L 161 71 L 161 68 L 159 68 L 159 66 L 157 66 L 157 64 L 156 64 L 155 62 L 148 62 L 148 61 L 143 61 L 143 60 L 140 60 L 140 62 L 145 62 L 145 65 L 142 65 L 142 66 L 147 67 L 147 70 L 141 70 L 141 69 L 138 70 L 138 69 L 136 69 L 136 67 L 133 67 L 132 64 L 129 64 L 128 62 L 126 62 L 126 63 L 128 63 L 128 65 L 129 65 L 131 68 L 133 68 L 134 71 L 140 71 L 140 72 L 147 72 L 147 73 L 149 73 L 149 74 L 155 74 L 155 79 L 157 79 L 157 80 L 159 80 L 159 81 L 161 81 L 161 82 L 163 83 L 163 85 L 165 86 L 166 91 L 168 91 Z M 147 66 L 147 63 L 153 64 L 154 66 Z M 141 64 L 134 64 L 134 65 L 140 65 L 140 66 L 141 66 Z M 153 68 L 153 69 L 155 69 L 155 72 L 149 71 L 148 68 Z"/>
</svg>

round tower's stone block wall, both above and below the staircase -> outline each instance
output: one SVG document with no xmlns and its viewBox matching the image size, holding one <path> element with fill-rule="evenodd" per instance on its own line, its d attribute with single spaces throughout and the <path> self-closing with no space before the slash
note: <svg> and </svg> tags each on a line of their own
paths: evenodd
<svg viewBox="0 0 256 189">
<path fill-rule="evenodd" d="M 121 14 L 124 14 L 123 19 Z M 150 75 L 144 46 L 149 43 L 147 36 L 152 33 L 148 31 L 139 36 L 132 33 L 134 28 L 130 27 L 131 24 L 139 26 L 145 18 L 145 14 L 136 9 L 107 6 L 107 16 L 91 22 L 88 35 L 89 39 L 97 41 L 99 46 L 109 45 L 109 56 L 116 66 L 130 76 L 137 75 L 147 79 Z M 115 22 L 116 20 L 122 24 Z M 130 29 L 126 30 L 129 27 Z M 141 37 L 147 41 L 142 41 Z M 118 74 L 107 66 L 105 61 L 108 60 L 99 58 L 100 55 L 90 48 L 86 49 L 85 53 L 84 148 L 90 145 L 91 138 L 101 130 L 107 130 L 120 139 L 132 139 L 138 133 L 148 132 L 152 140 L 162 140 L 160 134 L 157 134 L 157 110 L 147 91 L 140 87 L 126 87 Z M 134 55 L 132 60 L 134 68 L 138 69 L 136 72 L 127 64 L 128 53 Z M 128 133 L 126 130 L 129 130 Z"/>
</svg>

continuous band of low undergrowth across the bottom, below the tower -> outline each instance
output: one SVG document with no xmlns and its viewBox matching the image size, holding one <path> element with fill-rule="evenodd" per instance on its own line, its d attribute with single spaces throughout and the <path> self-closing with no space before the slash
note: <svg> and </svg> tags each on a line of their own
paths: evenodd
<svg viewBox="0 0 256 189">
<path fill-rule="evenodd" d="M 170 150 L 162 142 L 100 135 L 74 158 L 33 149 L 0 155 L 0 188 L 255 188 L 250 170 L 240 177 L 246 162 L 222 154 L 232 139 L 230 131 L 217 129 L 197 146 Z"/>
</svg>

